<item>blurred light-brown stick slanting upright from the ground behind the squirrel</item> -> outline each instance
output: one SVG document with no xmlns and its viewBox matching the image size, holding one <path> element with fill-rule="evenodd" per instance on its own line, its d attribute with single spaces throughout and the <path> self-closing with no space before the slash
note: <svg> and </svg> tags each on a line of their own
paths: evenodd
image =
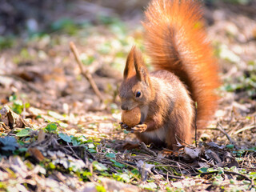
<svg viewBox="0 0 256 192">
<path fill-rule="evenodd" d="M 94 93 L 98 96 L 100 102 L 103 102 L 104 98 L 102 97 L 101 92 L 98 90 L 98 86 L 94 82 L 94 79 L 92 78 L 90 72 L 88 70 L 83 70 L 83 68 L 82 68 L 82 62 L 79 59 L 78 50 L 77 50 L 76 46 L 74 45 L 74 42 L 70 42 L 70 50 L 74 54 L 74 58 L 75 58 L 76 62 L 78 63 L 81 74 L 88 80 L 88 82 L 90 82 L 90 86 L 93 88 Z"/>
</svg>

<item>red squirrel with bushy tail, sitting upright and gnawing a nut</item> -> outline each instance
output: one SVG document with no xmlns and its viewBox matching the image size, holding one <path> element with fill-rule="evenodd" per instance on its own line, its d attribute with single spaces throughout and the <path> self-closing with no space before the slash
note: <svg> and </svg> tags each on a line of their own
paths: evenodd
<svg viewBox="0 0 256 192">
<path fill-rule="evenodd" d="M 140 141 L 173 150 L 178 142 L 191 142 L 195 123 L 202 129 L 212 118 L 218 65 L 198 2 L 152 0 L 145 15 L 146 53 L 155 70 L 149 73 L 142 53 L 130 50 L 119 87 L 121 108 L 140 108 L 141 121 L 131 128 Z"/>
</svg>

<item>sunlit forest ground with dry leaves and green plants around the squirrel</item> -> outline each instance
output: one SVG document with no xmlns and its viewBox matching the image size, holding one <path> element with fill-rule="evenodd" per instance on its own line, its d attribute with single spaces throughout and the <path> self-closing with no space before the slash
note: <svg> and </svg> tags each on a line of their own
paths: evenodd
<svg viewBox="0 0 256 192">
<path fill-rule="evenodd" d="M 143 144 L 122 150 L 136 139 L 118 124 L 126 55 L 134 44 L 144 52 L 146 3 L 2 2 L 1 190 L 255 191 L 256 3 L 204 4 L 222 78 L 218 111 L 197 146 L 169 155 Z"/>
</svg>

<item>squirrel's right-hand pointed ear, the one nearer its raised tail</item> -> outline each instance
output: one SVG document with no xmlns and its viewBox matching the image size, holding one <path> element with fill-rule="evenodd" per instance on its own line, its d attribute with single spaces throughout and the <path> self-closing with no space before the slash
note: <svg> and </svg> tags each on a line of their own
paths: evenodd
<svg viewBox="0 0 256 192">
<path fill-rule="evenodd" d="M 145 62 L 142 58 L 142 52 L 140 50 L 137 50 L 134 47 L 134 67 L 136 70 L 136 77 L 141 82 L 146 82 L 147 85 L 150 84 L 150 78 L 149 74 L 146 69 Z"/>
</svg>

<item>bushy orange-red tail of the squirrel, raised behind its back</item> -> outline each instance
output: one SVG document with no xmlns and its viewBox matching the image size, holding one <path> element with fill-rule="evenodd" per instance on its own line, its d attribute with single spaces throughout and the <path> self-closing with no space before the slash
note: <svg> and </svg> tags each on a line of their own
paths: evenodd
<svg viewBox="0 0 256 192">
<path fill-rule="evenodd" d="M 156 70 L 169 70 L 198 103 L 197 126 L 214 114 L 218 65 L 203 29 L 200 5 L 193 0 L 153 0 L 146 10 L 146 50 Z"/>
</svg>

